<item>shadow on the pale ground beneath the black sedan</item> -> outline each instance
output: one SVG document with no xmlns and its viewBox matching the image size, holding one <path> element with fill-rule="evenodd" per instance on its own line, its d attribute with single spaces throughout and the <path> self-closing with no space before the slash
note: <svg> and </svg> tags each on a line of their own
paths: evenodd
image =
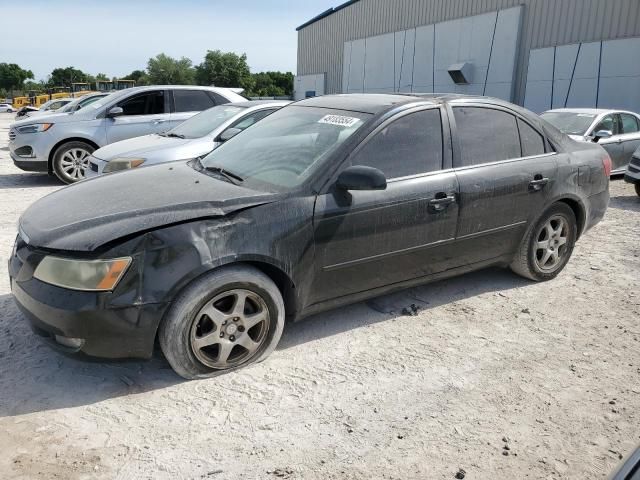
<svg viewBox="0 0 640 480">
<path fill-rule="evenodd" d="M 389 321 L 414 310 L 426 311 L 528 284 L 506 270 L 488 269 L 403 290 L 287 325 L 278 350 Z M 403 309 L 408 310 L 403 313 Z M 11 295 L 0 296 L 0 312 L 0 418 L 90 405 L 184 381 L 171 370 L 159 349 L 150 361 L 87 362 L 62 355 L 41 342 Z"/>
</svg>

